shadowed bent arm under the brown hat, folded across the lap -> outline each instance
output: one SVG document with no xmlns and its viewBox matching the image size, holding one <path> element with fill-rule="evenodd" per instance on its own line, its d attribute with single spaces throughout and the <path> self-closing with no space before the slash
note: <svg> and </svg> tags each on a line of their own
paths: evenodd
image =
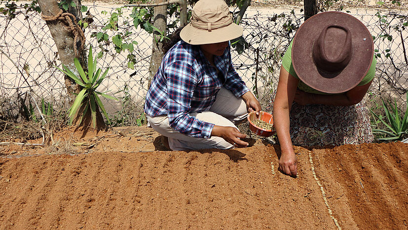
<svg viewBox="0 0 408 230">
<path fill-rule="evenodd" d="M 372 80 L 365 85 L 356 86 L 346 93 L 334 95 L 306 93 L 297 90 L 295 102 L 299 105 L 322 104 L 332 106 L 352 106 L 363 100 L 364 95 L 366 95 L 367 90 L 370 88 L 371 82 Z"/>
</svg>

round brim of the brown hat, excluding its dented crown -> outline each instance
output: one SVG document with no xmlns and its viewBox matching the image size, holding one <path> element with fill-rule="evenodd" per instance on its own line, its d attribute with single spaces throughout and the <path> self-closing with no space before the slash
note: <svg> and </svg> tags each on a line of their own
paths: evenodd
<svg viewBox="0 0 408 230">
<path fill-rule="evenodd" d="M 335 77 L 319 71 L 312 55 L 313 43 L 331 24 L 346 25 L 352 36 L 350 62 Z M 357 18 L 343 12 L 324 12 L 310 17 L 297 30 L 292 45 L 292 63 L 297 77 L 308 86 L 324 93 L 343 93 L 357 86 L 366 76 L 373 50 L 371 34 Z"/>
</svg>

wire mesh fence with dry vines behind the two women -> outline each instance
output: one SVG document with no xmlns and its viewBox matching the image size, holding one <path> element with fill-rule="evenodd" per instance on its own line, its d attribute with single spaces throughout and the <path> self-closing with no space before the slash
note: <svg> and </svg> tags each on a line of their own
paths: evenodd
<svg viewBox="0 0 408 230">
<path fill-rule="evenodd" d="M 101 32 L 109 18 L 109 13 L 101 12 L 113 12 L 119 6 L 87 6 L 93 15 L 93 23 L 85 30 L 86 48 L 90 43 L 95 52 L 104 50 L 104 55 L 98 59 L 98 67 L 103 70 L 110 67 L 109 77 L 98 89 L 119 98 L 118 102 L 105 100 L 103 103 L 114 125 L 135 125 L 136 118 L 143 111 L 148 90 L 151 34 L 135 29 L 133 23 L 119 26 L 123 34 L 138 42 L 132 53 L 137 61 L 134 69 L 130 69 L 127 66 L 128 51 L 117 53 L 109 42 L 100 44 L 91 38 L 92 33 Z M 130 13 L 131 10 L 127 11 Z M 303 22 L 299 9 L 278 9 L 277 12 L 265 13 L 257 8 L 248 10 L 241 21 L 246 48 L 242 53 L 232 49 L 235 69 L 259 96 L 266 111 L 271 109 L 270 95 L 277 86 L 281 57 Z M 378 96 L 396 99 L 400 110 L 405 110 L 408 30 L 404 23 L 408 21 L 407 13 L 374 8 L 354 9 L 349 13 L 360 19 L 374 37 L 377 66 L 370 99 L 374 101 Z M 68 109 L 64 76 L 54 67 L 61 66 L 57 49 L 38 13 L 17 8 L 15 17 L 0 16 L 0 63 L 0 118 L 21 118 L 24 106 L 29 108 L 33 98 L 44 98 L 54 107 Z"/>
</svg>

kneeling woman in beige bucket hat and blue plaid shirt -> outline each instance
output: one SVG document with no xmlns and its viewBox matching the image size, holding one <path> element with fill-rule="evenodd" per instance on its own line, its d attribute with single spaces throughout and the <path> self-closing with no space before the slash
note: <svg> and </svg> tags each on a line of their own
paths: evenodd
<svg viewBox="0 0 408 230">
<path fill-rule="evenodd" d="M 145 113 L 171 150 L 248 146 L 235 124 L 261 108 L 232 66 L 229 40 L 242 32 L 223 0 L 199 0 L 181 40 L 166 50 Z"/>
</svg>

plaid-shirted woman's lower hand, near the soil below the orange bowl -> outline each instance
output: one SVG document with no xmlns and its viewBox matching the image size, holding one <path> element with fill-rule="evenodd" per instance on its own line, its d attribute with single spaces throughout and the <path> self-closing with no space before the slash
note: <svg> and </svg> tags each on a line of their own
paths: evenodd
<svg viewBox="0 0 408 230">
<path fill-rule="evenodd" d="M 249 145 L 240 139 L 245 138 L 247 135 L 240 133 L 235 127 L 214 125 L 211 136 L 222 137 L 226 142 L 235 147 L 247 147 Z"/>
</svg>

